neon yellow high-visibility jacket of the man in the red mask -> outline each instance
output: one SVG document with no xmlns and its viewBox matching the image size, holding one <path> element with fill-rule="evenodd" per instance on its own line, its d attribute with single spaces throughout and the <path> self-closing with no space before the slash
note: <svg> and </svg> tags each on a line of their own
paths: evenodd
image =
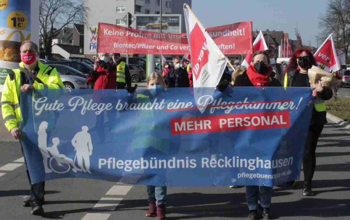
<svg viewBox="0 0 350 220">
<path fill-rule="evenodd" d="M 34 82 L 35 89 L 62 89 L 63 83 L 59 77 L 56 68 L 51 68 L 38 62 L 39 71 L 37 77 L 45 84 Z M 24 68 L 23 62 L 20 67 Z M 22 73 L 24 74 L 24 73 Z M 1 95 L 1 112 L 5 126 L 10 132 L 13 128 L 19 128 L 21 122 L 21 108 L 20 108 L 20 87 L 21 87 L 21 70 L 13 69 L 12 72 L 6 76 L 5 83 Z M 60 94 L 61 92 L 59 92 Z"/>
</svg>

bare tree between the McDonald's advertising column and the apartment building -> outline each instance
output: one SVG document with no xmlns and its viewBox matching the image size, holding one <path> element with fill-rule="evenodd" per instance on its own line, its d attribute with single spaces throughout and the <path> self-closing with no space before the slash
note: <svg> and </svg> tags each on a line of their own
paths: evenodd
<svg viewBox="0 0 350 220">
<path fill-rule="evenodd" d="M 53 37 L 64 27 L 84 23 L 90 10 L 84 0 L 40 0 L 39 7 L 42 44 L 51 58 Z"/>
</svg>

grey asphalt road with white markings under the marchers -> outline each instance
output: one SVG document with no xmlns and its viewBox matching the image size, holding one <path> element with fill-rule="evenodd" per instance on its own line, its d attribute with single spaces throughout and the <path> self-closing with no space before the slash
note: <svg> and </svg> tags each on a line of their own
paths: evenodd
<svg viewBox="0 0 350 220">
<path fill-rule="evenodd" d="M 330 121 L 329 121 L 330 122 Z M 8 134 L 7 134 L 8 135 Z M 22 207 L 29 193 L 18 142 L 0 142 L 1 220 L 150 220 L 145 186 L 67 178 L 46 183 L 45 214 L 34 216 Z M 275 219 L 350 219 L 350 132 L 330 122 L 317 148 L 314 197 L 294 188 L 274 187 Z M 303 178 L 303 175 L 301 175 Z M 169 187 L 167 219 L 246 219 L 245 188 Z"/>
</svg>

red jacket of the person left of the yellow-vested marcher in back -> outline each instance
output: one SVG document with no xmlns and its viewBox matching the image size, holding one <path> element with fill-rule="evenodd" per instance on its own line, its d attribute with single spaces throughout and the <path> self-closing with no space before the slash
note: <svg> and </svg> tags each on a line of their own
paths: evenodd
<svg viewBox="0 0 350 220">
<path fill-rule="evenodd" d="M 96 71 L 92 71 L 92 75 L 86 79 L 86 82 L 94 83 L 93 89 L 116 89 L 117 72 L 98 67 Z"/>
</svg>

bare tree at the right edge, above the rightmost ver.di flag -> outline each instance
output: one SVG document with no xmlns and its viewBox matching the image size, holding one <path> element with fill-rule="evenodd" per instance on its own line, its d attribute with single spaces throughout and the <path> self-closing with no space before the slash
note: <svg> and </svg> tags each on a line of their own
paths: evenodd
<svg viewBox="0 0 350 220">
<path fill-rule="evenodd" d="M 329 0 L 326 13 L 318 19 L 318 27 L 322 30 L 321 40 L 325 40 L 331 33 L 335 41 L 337 54 L 345 54 L 348 61 L 350 46 L 350 0 Z"/>
</svg>

